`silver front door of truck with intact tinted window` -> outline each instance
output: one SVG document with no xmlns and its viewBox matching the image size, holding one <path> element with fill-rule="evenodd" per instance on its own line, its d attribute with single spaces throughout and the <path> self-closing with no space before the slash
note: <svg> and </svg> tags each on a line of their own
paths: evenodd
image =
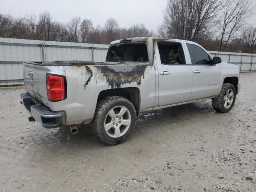
<svg viewBox="0 0 256 192">
<path fill-rule="evenodd" d="M 190 100 L 215 96 L 220 83 L 220 69 L 210 64 L 210 55 L 200 46 L 187 43 L 192 68 L 192 94 Z"/>
</svg>

